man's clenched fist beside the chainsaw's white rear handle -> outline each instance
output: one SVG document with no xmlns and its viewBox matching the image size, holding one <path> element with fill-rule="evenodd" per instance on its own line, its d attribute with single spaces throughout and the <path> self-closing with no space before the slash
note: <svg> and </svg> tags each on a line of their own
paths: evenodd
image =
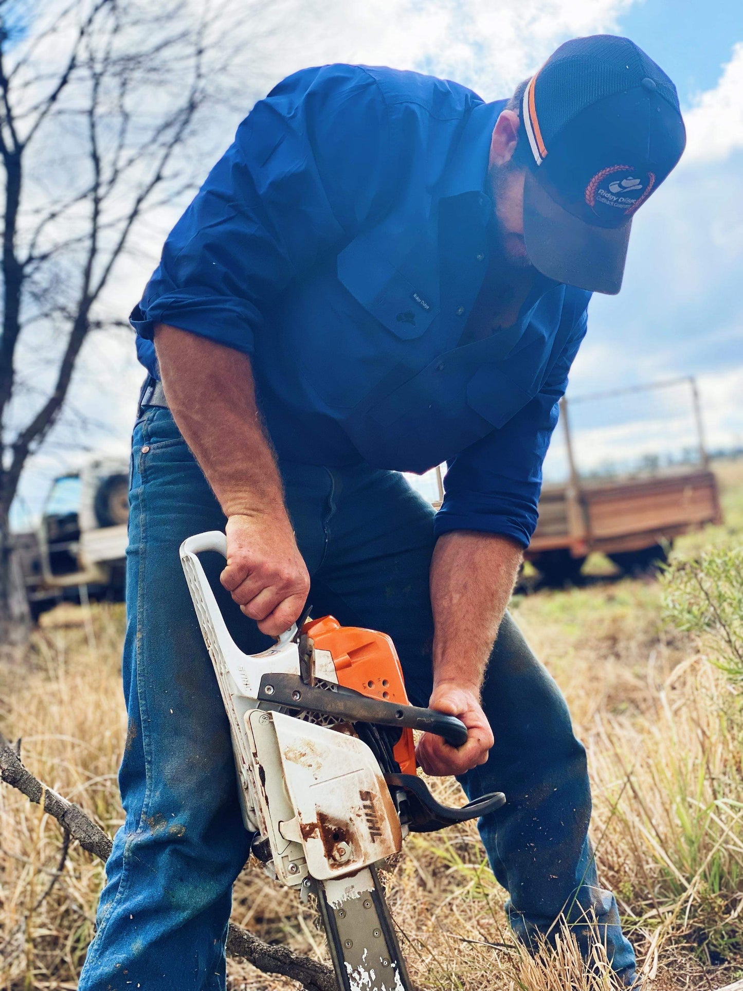
<svg viewBox="0 0 743 991">
<path fill-rule="evenodd" d="M 288 517 L 230 516 L 220 581 L 262 633 L 287 630 L 304 608 L 310 584 Z"/>
</svg>

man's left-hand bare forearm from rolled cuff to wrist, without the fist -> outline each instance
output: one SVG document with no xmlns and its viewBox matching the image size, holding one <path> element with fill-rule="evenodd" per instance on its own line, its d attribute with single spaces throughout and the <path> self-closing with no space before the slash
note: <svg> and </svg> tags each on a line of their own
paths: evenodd
<svg viewBox="0 0 743 991">
<path fill-rule="evenodd" d="M 156 330 L 155 347 L 173 419 L 225 515 L 282 510 L 250 358 L 165 324 Z"/>
</svg>

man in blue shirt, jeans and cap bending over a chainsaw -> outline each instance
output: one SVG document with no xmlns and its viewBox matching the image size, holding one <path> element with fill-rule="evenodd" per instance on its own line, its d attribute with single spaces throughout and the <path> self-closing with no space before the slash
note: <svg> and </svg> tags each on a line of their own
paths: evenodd
<svg viewBox="0 0 743 991">
<path fill-rule="evenodd" d="M 241 125 L 132 318 L 150 376 L 132 462 L 127 818 L 80 988 L 224 988 L 250 837 L 177 556 L 221 528 L 221 604 L 243 649 L 308 595 L 314 615 L 390 634 L 411 701 L 470 731 L 460 750 L 424 735 L 423 769 L 459 775 L 471 798 L 506 795 L 480 834 L 517 936 L 534 945 L 563 918 L 633 983 L 586 836 L 584 748 L 504 610 L 590 291 L 619 290 L 632 216 L 684 143 L 673 83 L 608 36 L 563 45 L 508 102 L 330 65 L 285 79 Z M 434 514 L 397 473 L 445 460 Z"/>
</svg>

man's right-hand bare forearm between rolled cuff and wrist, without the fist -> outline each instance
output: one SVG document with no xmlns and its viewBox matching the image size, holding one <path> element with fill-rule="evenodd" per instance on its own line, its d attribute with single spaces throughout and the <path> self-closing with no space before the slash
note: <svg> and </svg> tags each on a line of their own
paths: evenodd
<svg viewBox="0 0 743 991">
<path fill-rule="evenodd" d="M 435 688 L 451 683 L 479 693 L 521 559 L 521 548 L 500 534 L 457 530 L 439 538 L 431 562 Z"/>
</svg>

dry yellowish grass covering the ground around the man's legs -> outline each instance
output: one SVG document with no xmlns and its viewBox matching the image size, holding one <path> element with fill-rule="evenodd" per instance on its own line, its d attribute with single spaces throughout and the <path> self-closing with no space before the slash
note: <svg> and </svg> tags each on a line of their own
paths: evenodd
<svg viewBox="0 0 743 991">
<path fill-rule="evenodd" d="M 743 470 L 732 466 L 728 477 L 737 529 Z M 743 729 L 729 682 L 690 635 L 663 626 L 657 583 L 540 593 L 514 606 L 587 744 L 599 873 L 617 893 L 654 991 L 715 988 L 743 976 Z M 94 606 L 92 626 L 83 619 L 82 610 L 57 609 L 23 667 L 0 670 L 0 728 L 22 736 L 34 773 L 113 831 L 122 819 L 115 774 L 125 733 L 123 612 Z M 456 801 L 455 783 L 437 787 Z M 0 789 L 2 988 L 76 986 L 102 868 L 71 849 L 39 904 L 59 855 L 58 826 Z M 537 960 L 513 943 L 474 826 L 406 841 L 388 898 L 423 987 L 610 986 L 605 961 L 586 976 L 569 938 Z M 236 886 L 233 918 L 265 938 L 324 953 L 312 912 L 257 869 Z M 233 988 L 287 987 L 234 961 L 229 972 Z"/>
</svg>

